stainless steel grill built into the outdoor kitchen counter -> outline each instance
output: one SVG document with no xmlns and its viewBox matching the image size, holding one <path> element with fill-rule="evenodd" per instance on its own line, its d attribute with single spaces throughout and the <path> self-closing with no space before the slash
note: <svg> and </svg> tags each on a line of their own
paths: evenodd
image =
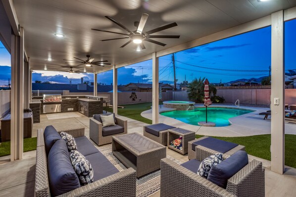
<svg viewBox="0 0 296 197">
<path fill-rule="evenodd" d="M 61 112 L 62 96 L 60 94 L 43 95 L 43 113 Z"/>
</svg>

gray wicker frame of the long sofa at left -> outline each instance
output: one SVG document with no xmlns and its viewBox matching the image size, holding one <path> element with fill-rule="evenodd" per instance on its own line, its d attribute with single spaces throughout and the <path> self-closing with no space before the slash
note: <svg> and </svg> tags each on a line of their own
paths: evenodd
<svg viewBox="0 0 296 197">
<path fill-rule="evenodd" d="M 84 128 L 76 128 L 70 130 L 63 130 L 71 134 L 74 138 L 81 138 L 84 136 Z M 59 131 L 61 132 L 61 131 Z M 91 144 L 94 146 L 90 141 L 85 144 Z M 77 144 L 78 147 L 78 144 Z M 82 149 L 88 149 L 87 147 L 81 147 Z M 95 148 L 91 147 L 91 148 Z M 97 149 L 98 150 L 98 149 Z M 99 151 L 99 150 L 98 150 Z M 82 153 L 82 152 L 81 152 Z M 101 153 L 95 153 L 101 154 Z M 100 165 L 102 168 L 110 168 L 111 162 L 100 161 L 99 158 L 94 155 L 95 160 L 93 165 Z M 87 156 L 86 156 L 87 157 Z M 102 157 L 102 156 L 100 156 Z M 103 156 L 104 157 L 104 156 Z M 103 166 L 108 165 L 108 166 Z M 111 164 L 112 165 L 112 164 Z M 111 166 L 114 167 L 114 166 Z M 95 168 L 93 166 L 93 168 Z M 45 138 L 43 129 L 38 129 L 37 134 L 37 153 L 36 153 L 36 175 L 35 175 L 35 196 L 36 197 L 50 197 L 50 189 L 49 189 L 49 174 L 48 174 L 48 159 L 46 153 L 46 146 L 45 146 Z M 59 197 L 135 197 L 136 196 L 136 171 L 132 168 L 128 168 L 124 171 L 117 172 L 110 176 L 104 177 L 93 183 L 90 183 L 85 186 L 80 186 L 79 188 L 69 191 L 60 195 Z"/>
</svg>

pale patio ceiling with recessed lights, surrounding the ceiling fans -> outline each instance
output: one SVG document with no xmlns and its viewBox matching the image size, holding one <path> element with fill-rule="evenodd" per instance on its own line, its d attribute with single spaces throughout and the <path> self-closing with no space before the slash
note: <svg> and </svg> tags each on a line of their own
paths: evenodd
<svg viewBox="0 0 296 197">
<path fill-rule="evenodd" d="M 112 65 L 124 63 L 172 46 L 198 39 L 237 25 L 267 16 L 281 9 L 296 6 L 296 0 L 14 0 L 18 21 L 25 29 L 25 51 L 33 70 L 69 70 L 61 66 L 63 59 L 78 57 L 95 61 L 108 60 Z M 92 31 L 91 28 L 127 33 L 104 16 L 113 17 L 130 30 L 142 12 L 149 14 L 144 31 L 172 22 L 177 27 L 153 35 L 180 35 L 180 39 L 155 39 L 166 43 L 159 46 L 144 42 L 146 49 L 137 52 L 136 44 L 120 48 L 127 39 L 120 35 Z M 64 38 L 57 38 L 62 33 Z M 124 36 L 122 36 L 124 37 Z M 47 61 L 51 57 L 52 61 Z M 112 66 L 105 66 L 110 67 Z M 99 72 L 101 67 L 87 67 Z"/>
</svg>

